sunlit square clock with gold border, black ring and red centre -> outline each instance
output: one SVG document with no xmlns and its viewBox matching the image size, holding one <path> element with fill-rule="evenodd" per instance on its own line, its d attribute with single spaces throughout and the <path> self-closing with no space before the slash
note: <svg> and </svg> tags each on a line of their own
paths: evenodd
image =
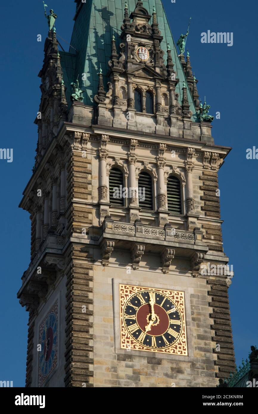
<svg viewBox="0 0 258 414">
<path fill-rule="evenodd" d="M 121 348 L 187 355 L 184 294 L 119 285 Z"/>
</svg>

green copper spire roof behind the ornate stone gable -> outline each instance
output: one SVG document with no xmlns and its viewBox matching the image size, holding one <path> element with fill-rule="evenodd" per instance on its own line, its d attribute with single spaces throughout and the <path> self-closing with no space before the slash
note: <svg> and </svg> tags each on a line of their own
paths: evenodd
<svg viewBox="0 0 258 414">
<path fill-rule="evenodd" d="M 127 3 L 130 15 L 135 9 L 137 0 L 129 0 Z M 181 104 L 183 81 L 186 81 L 186 78 L 178 58 L 178 52 L 171 34 L 164 7 L 161 0 L 143 1 L 143 7 L 145 7 L 149 14 L 152 14 L 153 7 L 156 8 L 159 30 L 163 36 L 161 47 L 165 52 L 164 63 L 166 65 L 167 43 L 169 43 L 174 70 L 177 72 L 177 77 L 180 79 L 179 84 L 176 86 L 176 92 L 179 94 L 179 102 Z M 75 82 L 78 74 L 79 79 L 82 79 L 82 73 L 86 73 L 86 80 L 80 82 L 80 87 L 86 90 L 86 93 L 84 94 L 84 103 L 87 105 L 93 104 L 94 95 L 97 93 L 100 66 L 104 75 L 104 84 L 107 84 L 108 79 L 106 73 L 109 69 L 108 61 L 111 56 L 111 40 L 114 34 L 116 47 L 117 50 L 119 50 L 118 45 L 121 41 L 119 37 L 124 19 L 124 8 L 125 0 L 87 0 L 86 3 L 82 3 L 72 32 L 70 44 L 73 48 L 70 48 L 69 53 L 60 51 L 61 65 L 64 71 L 63 79 L 65 86 L 67 87 L 66 94 L 69 104 L 70 83 Z M 75 52 L 75 49 L 77 52 Z M 190 110 L 193 112 L 192 120 L 198 121 L 198 116 L 195 111 L 188 85 L 187 94 Z"/>
</svg>

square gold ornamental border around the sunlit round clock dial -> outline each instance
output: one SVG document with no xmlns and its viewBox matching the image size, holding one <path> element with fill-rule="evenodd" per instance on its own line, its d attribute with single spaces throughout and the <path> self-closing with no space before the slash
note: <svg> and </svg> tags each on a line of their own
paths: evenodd
<svg viewBox="0 0 258 414">
<path fill-rule="evenodd" d="M 136 342 L 135 339 L 132 336 L 130 336 L 130 334 L 128 333 L 128 330 L 125 327 L 125 323 L 123 320 L 123 309 L 125 307 L 125 304 L 127 303 L 130 297 L 132 297 L 136 293 L 139 293 L 145 290 L 155 291 L 157 293 L 167 296 L 169 299 L 171 299 L 171 301 L 175 303 L 181 315 L 181 319 L 182 319 L 181 335 L 178 337 L 176 342 L 174 342 L 174 344 L 172 344 L 170 347 L 167 347 L 165 349 L 149 349 L 145 347 L 144 345 L 138 344 L 138 342 Z M 120 345 L 121 345 L 121 349 L 127 349 L 127 350 L 135 349 L 137 351 L 159 352 L 162 354 L 174 354 L 174 355 L 188 356 L 187 340 L 186 340 L 186 312 L 185 312 L 184 292 L 174 291 L 174 290 L 169 290 L 169 289 L 150 288 L 146 286 L 119 284 L 119 303 L 120 303 Z"/>
</svg>

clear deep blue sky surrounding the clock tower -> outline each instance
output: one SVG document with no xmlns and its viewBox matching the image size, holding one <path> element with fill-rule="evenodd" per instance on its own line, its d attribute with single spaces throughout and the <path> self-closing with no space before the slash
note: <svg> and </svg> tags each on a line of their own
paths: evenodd
<svg viewBox="0 0 258 414">
<path fill-rule="evenodd" d="M 176 41 L 191 16 L 187 47 L 198 91 L 211 105 L 216 144 L 233 147 L 219 172 L 224 251 L 234 266 L 229 289 L 237 365 L 246 359 L 257 337 L 257 178 L 258 160 L 246 149 L 258 147 L 257 1 L 164 0 Z M 58 14 L 57 33 L 70 42 L 75 14 L 73 0 L 47 1 Z M 29 213 L 18 209 L 34 165 L 37 129 L 33 121 L 40 102 L 40 79 L 47 24 L 41 0 L 2 2 L 0 36 L 1 148 L 13 148 L 13 162 L 0 160 L 0 380 L 24 386 L 28 313 L 16 293 L 30 262 Z M 233 32 L 234 44 L 201 43 L 207 30 Z M 37 34 L 42 42 L 36 41 Z M 61 41 L 65 50 L 68 45 Z"/>
</svg>

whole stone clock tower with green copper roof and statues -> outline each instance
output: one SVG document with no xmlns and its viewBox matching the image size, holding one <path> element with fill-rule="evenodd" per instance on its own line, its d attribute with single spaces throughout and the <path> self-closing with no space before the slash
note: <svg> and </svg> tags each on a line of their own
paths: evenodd
<svg viewBox="0 0 258 414">
<path fill-rule="evenodd" d="M 215 387 L 235 367 L 231 278 L 210 271 L 228 262 L 218 170 L 230 148 L 214 144 L 160 0 L 77 1 L 69 52 L 55 18 L 20 203 L 26 386 Z"/>
</svg>

